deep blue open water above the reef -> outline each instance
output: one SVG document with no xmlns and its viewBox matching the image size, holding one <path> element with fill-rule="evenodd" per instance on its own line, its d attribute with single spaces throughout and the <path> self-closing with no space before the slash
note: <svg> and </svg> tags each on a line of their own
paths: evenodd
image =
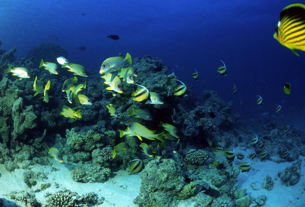
<svg viewBox="0 0 305 207">
<path fill-rule="evenodd" d="M 275 105 L 281 104 L 283 123 L 302 126 L 305 52 L 298 51 L 297 57 L 273 38 L 280 11 L 293 2 L 0 0 L 0 39 L 3 49 L 17 48 L 18 58 L 38 43 L 59 44 L 71 63 L 96 75 L 103 60 L 120 52 L 132 58 L 156 56 L 170 67 L 169 73 L 194 86 L 198 96 L 215 90 L 223 100 L 234 101 L 233 112 L 247 118 L 254 116 L 252 109 L 256 115 L 275 114 Z M 120 40 L 107 38 L 112 34 Z M 226 77 L 217 73 L 219 60 L 227 66 Z M 192 78 L 193 68 L 198 82 Z M 292 85 L 290 95 L 282 91 L 286 82 Z M 233 83 L 237 94 L 231 94 Z M 256 95 L 263 97 L 261 107 Z M 292 107 L 300 111 L 289 122 Z"/>
</svg>

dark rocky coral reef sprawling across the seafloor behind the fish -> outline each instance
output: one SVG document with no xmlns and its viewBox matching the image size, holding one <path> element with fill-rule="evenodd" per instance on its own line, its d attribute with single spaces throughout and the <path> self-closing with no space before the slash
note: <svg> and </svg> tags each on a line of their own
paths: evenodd
<svg viewBox="0 0 305 207">
<path fill-rule="evenodd" d="M 154 106 L 132 100 L 130 94 L 138 86 L 123 82 L 124 93 L 121 97 L 127 96 L 127 99 L 116 108 L 117 116 L 110 116 L 106 106 L 113 94 L 106 89 L 97 72 L 88 70 L 87 78 L 77 77 L 80 83 L 86 81 L 88 87 L 83 91 L 90 96 L 92 105 L 68 105 L 61 87 L 67 78 L 74 75 L 63 69 L 59 71 L 60 75 L 39 69 L 41 59 L 55 62 L 57 56 L 67 56 L 65 49 L 42 43 L 34 46 L 21 60 L 16 60 L 15 51 L 16 48 L 8 52 L 0 49 L 0 164 L 9 172 L 25 169 L 23 182 L 29 189 L 48 175 L 43 169 L 33 171 L 34 165 L 45 166 L 50 172 L 57 170 L 49 161 L 48 148 L 51 147 L 65 155 L 64 162 L 75 165 L 70 170 L 75 182 L 105 182 L 112 175 L 113 167 L 129 169 L 131 174 L 139 173 L 142 185 L 134 199 L 136 205 L 174 206 L 186 199 L 205 203 L 205 206 L 225 206 L 230 203 L 249 206 L 251 202 L 264 205 L 266 196 L 252 198 L 247 195 L 246 189 L 237 189 L 239 183 L 236 178 L 241 173 L 238 164 L 242 163 L 232 164 L 237 146 L 253 149 L 257 157 L 262 156 L 261 159 L 279 163 L 297 160 L 290 168 L 279 172 L 278 176 L 287 185 L 294 185 L 300 179 L 299 156 L 305 155 L 303 133 L 294 136 L 297 129 L 292 129 L 292 126 L 290 131 L 283 132 L 276 118 L 261 120 L 263 124 L 259 126 L 245 124 L 239 114 L 231 114 L 233 102 L 225 103 L 215 91 L 204 90 L 201 96 L 195 97 L 190 87 L 185 92 L 188 96 L 175 96 L 175 87 L 179 84 L 176 80 L 180 77 L 174 73 L 168 74 L 168 67 L 156 57 L 136 57 L 132 67 L 138 74 L 135 83 L 159 94 L 164 104 Z M 7 73 L 8 66 L 25 67 L 31 76 L 19 80 Z M 35 76 L 39 76 L 44 84 L 50 81 L 48 93 L 53 97 L 48 103 L 33 96 Z M 61 116 L 64 105 L 74 111 L 81 109 L 81 118 Z M 129 109 L 149 110 L 152 120 L 142 119 L 140 125 L 153 129 L 154 135 L 162 134 L 165 138 L 142 137 L 143 140 L 140 140 L 141 136 L 132 134 L 132 130 L 128 132 L 130 126 L 125 123 L 130 118 Z M 162 127 L 160 123 L 167 125 Z M 176 137 L 173 136 L 174 129 L 177 130 Z M 127 135 L 131 133 L 131 136 L 121 137 L 119 130 Z M 253 132 L 262 146 L 251 143 Z M 126 144 L 122 148 L 123 142 Z M 140 147 L 141 143 L 146 143 L 148 148 Z M 154 155 L 158 149 L 161 149 L 161 158 Z M 221 153 L 223 156 L 219 156 Z M 230 153 L 234 156 L 230 157 Z M 139 160 L 142 165 L 141 162 L 131 165 L 131 161 Z M 249 166 L 251 168 L 251 164 Z M 44 183 L 40 190 L 50 185 L 53 184 Z M 272 178 L 266 177 L 262 188 L 271 191 L 272 185 Z M 94 192 L 76 195 L 68 190 L 46 194 L 45 197 L 49 206 L 74 206 L 81 202 L 95 205 L 104 200 L 97 198 Z M 3 199 L 7 198 L 0 198 L 0 202 Z M 38 205 L 32 191 L 11 192 L 9 199 L 29 206 Z M 60 203 L 56 203 L 58 199 Z"/>
</svg>

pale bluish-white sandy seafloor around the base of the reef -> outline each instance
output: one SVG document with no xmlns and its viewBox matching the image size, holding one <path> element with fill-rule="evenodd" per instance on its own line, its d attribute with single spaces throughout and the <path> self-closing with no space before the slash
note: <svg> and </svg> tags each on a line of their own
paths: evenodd
<svg viewBox="0 0 305 207">
<path fill-rule="evenodd" d="M 242 152 L 242 150 L 239 150 L 239 147 L 236 147 L 235 150 Z M 250 151 L 247 151 L 247 153 L 248 152 Z M 270 160 L 261 161 L 260 158 L 256 157 L 251 160 L 251 170 L 249 172 L 239 174 L 237 178 L 239 182 L 238 188 L 246 188 L 247 194 L 251 195 L 252 199 L 257 198 L 260 195 L 266 195 L 267 201 L 265 202 L 264 206 L 267 207 L 302 207 L 305 203 L 305 157 L 300 156 L 300 159 L 302 159 L 302 175 L 300 177 L 300 181 L 294 186 L 286 186 L 285 183 L 278 177 L 278 171 L 284 170 L 286 167 L 291 166 L 294 162 L 276 163 Z M 139 175 L 129 175 L 126 170 L 114 170 L 112 175 L 105 183 L 78 183 L 71 178 L 69 172 L 73 165 L 59 163 L 51 158 L 50 160 L 52 160 L 52 167 L 59 169 L 58 171 L 50 172 L 49 169 L 52 167 L 42 165 L 36 165 L 32 169 L 33 171 L 41 171 L 41 169 L 43 169 L 45 172 L 51 173 L 47 176 L 47 180 L 38 181 L 35 186 L 32 186 L 32 190 L 35 190 L 40 188 L 41 183 L 51 183 L 51 187 L 44 191 L 35 193 L 38 202 L 40 202 L 42 206 L 45 206 L 44 204 L 46 204 L 47 198 L 45 198 L 44 195 L 47 192 L 55 193 L 64 189 L 77 192 L 80 195 L 94 192 L 99 196 L 99 198 L 101 196 L 105 198 L 102 204 L 95 206 L 136 206 L 133 203 L 133 199 L 139 195 L 141 187 L 141 179 Z M 238 166 L 235 165 L 235 167 Z M 15 169 L 13 172 L 8 172 L 5 170 L 4 165 L 0 165 L 0 172 L 2 174 L 0 177 L 0 198 L 13 201 L 8 196 L 11 191 L 30 190 L 30 188 L 23 182 L 23 171 L 23 169 Z M 266 189 L 260 187 L 266 175 L 271 176 L 272 180 L 274 180 L 274 187 L 271 191 L 267 191 Z M 256 186 L 260 188 L 259 190 L 253 190 L 251 187 L 251 183 L 253 182 L 256 182 Z M 55 183 L 59 184 L 58 188 L 55 187 Z M 23 202 L 13 202 L 16 202 L 16 204 L 19 206 L 25 206 Z M 195 204 L 197 204 L 197 202 L 194 202 L 192 198 L 189 198 L 187 200 L 180 201 L 179 204 L 175 206 L 193 206 Z M 201 205 L 205 206 L 204 204 Z M 15 205 L 12 205 L 11 203 L 5 206 Z M 230 206 L 232 206 L 232 203 Z"/>
</svg>

